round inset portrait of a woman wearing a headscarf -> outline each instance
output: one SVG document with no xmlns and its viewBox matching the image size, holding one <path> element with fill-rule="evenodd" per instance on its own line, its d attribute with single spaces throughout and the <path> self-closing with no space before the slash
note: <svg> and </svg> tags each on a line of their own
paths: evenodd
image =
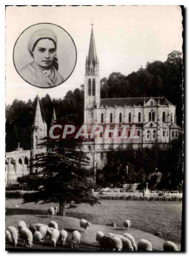
<svg viewBox="0 0 189 256">
<path fill-rule="evenodd" d="M 34 29 L 35 27 L 41 27 L 39 25 L 42 28 Z M 54 26 L 53 30 L 56 30 L 57 33 L 51 29 L 52 26 Z M 23 40 L 23 45 L 21 39 L 28 37 L 26 31 L 29 28 L 32 33 L 28 38 L 27 45 L 25 40 Z M 26 82 L 37 87 L 50 88 L 62 84 L 71 75 L 76 63 L 76 49 L 71 36 L 64 29 L 54 24 L 42 23 L 29 28 L 19 36 L 14 47 L 13 58 L 17 72 Z M 67 42 L 63 40 L 63 37 L 67 39 Z M 19 56 L 18 54 L 21 52 L 21 49 L 19 49 L 21 45 L 27 48 L 28 61 L 26 59 L 26 49 L 23 49 L 25 55 Z M 59 68 L 59 62 L 61 62 L 61 68 Z"/>
</svg>

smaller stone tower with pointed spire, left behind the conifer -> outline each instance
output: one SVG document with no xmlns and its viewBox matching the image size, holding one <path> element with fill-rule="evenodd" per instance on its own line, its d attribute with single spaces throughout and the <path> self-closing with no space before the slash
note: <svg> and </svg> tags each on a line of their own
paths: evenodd
<svg viewBox="0 0 189 256">
<path fill-rule="evenodd" d="M 46 152 L 46 148 L 40 148 L 39 143 L 43 142 L 43 138 L 47 136 L 47 124 L 43 122 L 41 109 L 39 105 L 39 97 L 37 97 L 37 106 L 35 111 L 35 118 L 32 126 L 32 138 L 31 138 L 31 159 L 34 158 L 36 154 Z M 34 168 L 33 168 L 34 169 Z M 32 170 L 32 172 L 37 172 L 38 170 Z"/>
</svg>

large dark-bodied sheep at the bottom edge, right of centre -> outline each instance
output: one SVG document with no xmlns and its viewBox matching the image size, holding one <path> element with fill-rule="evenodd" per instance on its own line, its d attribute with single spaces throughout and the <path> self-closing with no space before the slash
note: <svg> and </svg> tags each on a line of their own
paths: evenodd
<svg viewBox="0 0 189 256">
<path fill-rule="evenodd" d="M 118 238 L 118 239 L 117 239 Z M 120 242 L 120 238 L 117 236 L 102 236 L 100 241 L 99 241 L 99 245 L 100 245 L 100 250 L 104 249 L 104 251 L 106 251 L 106 249 L 108 250 L 121 250 L 122 245 L 122 241 Z"/>
</svg>

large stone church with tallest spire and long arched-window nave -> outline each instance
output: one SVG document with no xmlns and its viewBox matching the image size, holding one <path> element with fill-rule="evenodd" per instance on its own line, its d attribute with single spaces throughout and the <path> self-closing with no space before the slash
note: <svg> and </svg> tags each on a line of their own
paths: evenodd
<svg viewBox="0 0 189 256">
<path fill-rule="evenodd" d="M 177 139 L 182 133 L 176 124 L 176 107 L 164 97 L 100 99 L 98 72 L 99 61 L 92 28 L 89 54 L 85 62 L 84 124 L 88 127 L 100 124 L 103 132 L 95 135 L 94 139 L 89 134 L 83 148 L 91 158 L 91 168 L 95 173 L 106 163 L 106 157 L 101 157 L 102 154 L 105 156 L 110 149 L 151 148 L 155 143 L 162 149 L 169 149 L 171 140 Z M 118 128 L 113 136 L 115 125 Z M 122 125 L 127 126 L 127 138 L 121 138 Z M 105 139 L 107 127 L 109 131 Z"/>
</svg>

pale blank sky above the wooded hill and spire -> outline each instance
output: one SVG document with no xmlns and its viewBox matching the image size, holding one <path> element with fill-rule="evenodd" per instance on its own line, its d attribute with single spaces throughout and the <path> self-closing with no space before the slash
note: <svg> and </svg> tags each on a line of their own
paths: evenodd
<svg viewBox="0 0 189 256">
<path fill-rule="evenodd" d="M 93 21 L 92 21 L 93 20 Z M 13 48 L 23 30 L 48 22 L 64 28 L 73 38 L 77 62 L 63 84 L 42 89 L 26 83 L 13 64 Z M 182 15 L 178 6 L 10 6 L 6 8 L 6 104 L 17 98 L 33 100 L 36 94 L 63 98 L 84 83 L 91 22 L 99 60 L 100 78 L 112 72 L 128 75 L 147 61 L 165 61 L 173 50 L 182 52 Z"/>
</svg>

